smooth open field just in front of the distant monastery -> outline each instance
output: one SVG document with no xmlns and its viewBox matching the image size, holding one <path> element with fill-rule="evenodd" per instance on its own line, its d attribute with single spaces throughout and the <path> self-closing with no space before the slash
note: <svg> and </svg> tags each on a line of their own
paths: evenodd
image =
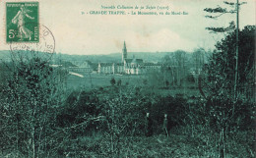
<svg viewBox="0 0 256 158">
<path fill-rule="evenodd" d="M 154 93 L 158 93 L 160 95 L 168 95 L 168 94 L 185 94 L 185 95 L 200 95 L 199 90 L 194 87 L 193 83 L 186 83 L 183 87 L 172 87 L 169 88 L 157 88 L 153 87 L 150 84 L 145 85 L 144 80 L 148 79 L 147 76 L 137 76 L 137 75 L 98 75 L 98 74 L 81 74 L 84 78 L 69 75 L 67 78 L 67 88 L 68 89 L 98 89 L 99 87 L 107 87 L 111 86 L 110 79 L 114 78 L 117 82 L 119 79 L 121 80 L 122 85 L 128 86 L 138 86 L 144 87 L 144 90 L 150 91 L 153 90 Z M 190 87 L 190 88 L 188 88 Z"/>
</svg>

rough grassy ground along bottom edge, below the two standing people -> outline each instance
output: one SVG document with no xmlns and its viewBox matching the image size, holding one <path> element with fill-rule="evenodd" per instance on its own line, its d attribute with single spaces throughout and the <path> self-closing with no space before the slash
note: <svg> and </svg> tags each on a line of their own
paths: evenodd
<svg viewBox="0 0 256 158">
<path fill-rule="evenodd" d="M 246 132 L 247 133 L 247 132 Z M 247 146 L 244 133 L 240 137 L 226 138 L 225 157 L 253 157 L 253 151 Z M 248 139 L 247 139 L 248 140 Z M 111 151 L 111 139 L 102 133 L 94 136 L 81 136 L 65 141 L 59 152 L 65 157 L 92 158 L 217 158 L 220 155 L 219 134 L 203 133 L 192 136 L 188 133 L 170 133 L 153 136 L 121 136 L 114 139 L 114 152 Z M 251 142 L 249 142 L 251 143 Z"/>
</svg>

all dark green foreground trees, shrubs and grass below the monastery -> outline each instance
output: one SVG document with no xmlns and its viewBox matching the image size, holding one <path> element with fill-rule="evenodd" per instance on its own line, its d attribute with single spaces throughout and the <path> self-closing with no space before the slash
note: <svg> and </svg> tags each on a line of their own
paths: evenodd
<svg viewBox="0 0 256 158">
<path fill-rule="evenodd" d="M 162 69 L 141 85 L 108 79 L 70 90 L 66 72 L 39 58 L 1 65 L 9 71 L 1 72 L 0 157 L 254 157 L 255 26 L 240 35 L 236 81 L 232 32 L 195 79 L 180 67 L 175 79 Z"/>
</svg>

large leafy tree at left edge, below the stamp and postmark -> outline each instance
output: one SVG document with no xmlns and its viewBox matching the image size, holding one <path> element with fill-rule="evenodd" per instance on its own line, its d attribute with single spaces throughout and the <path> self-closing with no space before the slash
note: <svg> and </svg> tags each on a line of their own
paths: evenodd
<svg viewBox="0 0 256 158">
<path fill-rule="evenodd" d="M 61 77 L 39 58 L 16 62 L 11 74 L 0 100 L 0 109 L 5 113 L 1 120 L 9 126 L 3 126 L 1 131 L 6 137 L 12 135 L 9 145 L 13 149 L 16 146 L 18 153 L 25 157 L 43 156 L 54 127 L 54 108 L 61 102 Z"/>
</svg>

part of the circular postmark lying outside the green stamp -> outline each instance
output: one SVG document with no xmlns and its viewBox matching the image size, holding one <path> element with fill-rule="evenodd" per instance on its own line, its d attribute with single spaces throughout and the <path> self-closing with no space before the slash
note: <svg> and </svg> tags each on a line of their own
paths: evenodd
<svg viewBox="0 0 256 158">
<path fill-rule="evenodd" d="M 11 42 L 10 50 L 17 61 L 30 61 L 38 58 L 48 62 L 55 52 L 55 38 L 50 29 L 43 25 L 26 24 L 25 26 L 38 26 L 38 42 Z"/>
</svg>

